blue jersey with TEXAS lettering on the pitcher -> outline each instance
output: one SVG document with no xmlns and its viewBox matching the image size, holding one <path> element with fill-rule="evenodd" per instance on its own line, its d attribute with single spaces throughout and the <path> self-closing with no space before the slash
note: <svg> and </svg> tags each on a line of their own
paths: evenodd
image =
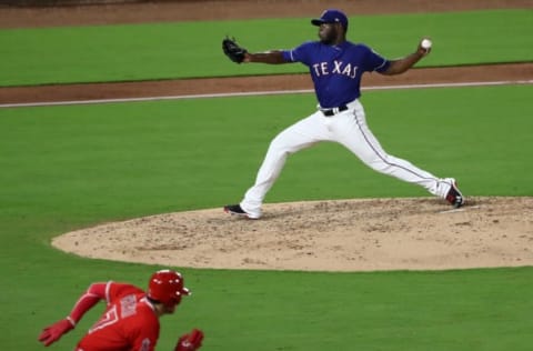
<svg viewBox="0 0 533 351">
<path fill-rule="evenodd" d="M 309 67 L 321 108 L 346 104 L 361 96 L 364 72 L 385 71 L 390 61 L 364 44 L 344 41 L 326 46 L 320 41 L 305 42 L 292 50 L 282 50 L 288 62 Z"/>
</svg>

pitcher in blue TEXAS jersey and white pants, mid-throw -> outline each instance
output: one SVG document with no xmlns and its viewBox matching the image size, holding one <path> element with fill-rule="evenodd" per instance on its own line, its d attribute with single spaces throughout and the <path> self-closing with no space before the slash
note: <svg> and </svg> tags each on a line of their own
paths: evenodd
<svg viewBox="0 0 533 351">
<path fill-rule="evenodd" d="M 311 23 L 319 27 L 319 40 L 304 42 L 291 50 L 251 53 L 230 38 L 222 41 L 224 53 L 237 63 L 305 64 L 319 102 L 316 111 L 272 140 L 255 183 L 240 203 L 225 205 L 224 211 L 259 219 L 263 199 L 280 176 L 288 156 L 321 141 L 338 142 L 373 170 L 421 185 L 430 193 L 447 200 L 453 207 L 461 207 L 464 198 L 455 179 L 438 178 L 385 152 L 369 129 L 359 99 L 364 72 L 401 74 L 430 53 L 431 41 L 424 38 L 413 53 L 390 60 L 363 43 L 348 41 L 349 21 L 340 10 L 325 10 Z"/>
</svg>

